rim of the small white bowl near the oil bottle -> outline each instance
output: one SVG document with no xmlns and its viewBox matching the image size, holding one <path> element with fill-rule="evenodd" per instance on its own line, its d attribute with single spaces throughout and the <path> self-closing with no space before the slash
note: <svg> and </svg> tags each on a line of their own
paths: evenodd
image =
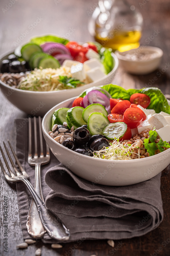
<svg viewBox="0 0 170 256">
<path fill-rule="evenodd" d="M 139 49 L 139 47 L 135 48 L 135 49 L 130 49 L 130 50 L 124 51 L 124 52 L 129 52 L 129 51 L 133 51 L 133 50 L 135 51 L 135 50 Z M 154 59 L 150 59 L 150 60 L 127 60 L 127 59 L 125 59 L 125 56 L 123 56 L 121 54 L 122 52 L 120 52 L 118 50 L 115 51 L 115 55 L 117 56 L 118 59 L 123 60 L 125 62 L 136 62 L 136 63 L 141 63 L 141 62 L 145 63 L 145 62 L 149 62 L 149 61 L 154 61 L 155 59 L 159 59 L 159 58 L 161 58 L 163 56 L 163 50 L 161 48 L 159 48 L 159 47 L 146 46 L 141 51 L 143 51 L 143 50 L 155 51 L 155 52 L 157 52 L 159 54 L 159 56 L 155 57 Z"/>
</svg>

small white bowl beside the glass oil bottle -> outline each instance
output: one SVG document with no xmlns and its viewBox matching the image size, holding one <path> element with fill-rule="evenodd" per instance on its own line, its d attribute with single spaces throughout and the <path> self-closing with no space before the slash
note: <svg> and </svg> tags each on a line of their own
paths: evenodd
<svg viewBox="0 0 170 256">
<path fill-rule="evenodd" d="M 157 53 L 157 57 L 154 59 L 150 59 L 150 60 L 127 60 L 126 57 L 124 56 L 125 53 L 143 53 L 143 52 L 156 52 Z M 163 51 L 158 48 L 158 47 L 153 47 L 153 46 L 146 46 L 146 47 L 142 47 L 140 46 L 138 49 L 132 49 L 129 51 L 125 51 L 125 52 L 119 52 L 119 51 L 115 51 L 115 55 L 117 56 L 117 58 L 119 59 L 119 62 L 121 64 L 121 66 L 128 71 L 129 73 L 132 74 L 136 74 L 136 75 L 146 75 L 149 74 L 151 72 L 153 72 L 154 70 L 156 70 L 161 62 L 161 58 L 163 55 Z"/>
</svg>

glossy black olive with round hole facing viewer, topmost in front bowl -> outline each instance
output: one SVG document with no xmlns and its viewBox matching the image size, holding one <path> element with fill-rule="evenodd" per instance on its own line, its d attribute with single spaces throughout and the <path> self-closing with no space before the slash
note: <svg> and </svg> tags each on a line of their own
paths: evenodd
<svg viewBox="0 0 170 256">
<path fill-rule="evenodd" d="M 77 145 L 84 145 L 89 141 L 90 132 L 84 127 L 79 127 L 73 132 L 73 141 Z"/>
</svg>

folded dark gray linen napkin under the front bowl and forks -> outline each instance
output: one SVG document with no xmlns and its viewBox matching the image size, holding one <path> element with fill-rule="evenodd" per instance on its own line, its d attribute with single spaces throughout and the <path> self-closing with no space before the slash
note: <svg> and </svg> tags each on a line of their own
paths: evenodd
<svg viewBox="0 0 170 256">
<path fill-rule="evenodd" d="M 27 163 L 28 124 L 25 120 L 15 122 L 16 149 L 34 185 L 34 167 Z M 25 125 L 19 126 L 24 121 Z M 161 173 L 146 182 L 124 187 L 94 184 L 74 175 L 53 154 L 51 162 L 41 168 L 46 207 L 70 229 L 69 241 L 132 238 L 158 227 L 163 219 L 160 177 Z M 31 196 L 21 183 L 17 183 L 17 195 L 21 227 L 26 238 L 29 237 L 25 225 Z M 47 234 L 43 241 L 52 242 Z"/>
</svg>

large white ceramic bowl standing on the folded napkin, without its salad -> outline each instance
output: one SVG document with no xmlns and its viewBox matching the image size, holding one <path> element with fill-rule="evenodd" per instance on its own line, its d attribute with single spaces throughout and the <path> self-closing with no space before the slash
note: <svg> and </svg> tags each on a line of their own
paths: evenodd
<svg viewBox="0 0 170 256">
<path fill-rule="evenodd" d="M 62 146 L 48 134 L 51 118 L 56 109 L 68 107 L 73 99 L 63 101 L 49 110 L 43 118 L 42 129 L 50 150 L 74 174 L 97 184 L 126 186 L 154 177 L 170 163 L 170 148 L 158 155 L 141 159 L 106 160 L 82 155 Z"/>
</svg>

